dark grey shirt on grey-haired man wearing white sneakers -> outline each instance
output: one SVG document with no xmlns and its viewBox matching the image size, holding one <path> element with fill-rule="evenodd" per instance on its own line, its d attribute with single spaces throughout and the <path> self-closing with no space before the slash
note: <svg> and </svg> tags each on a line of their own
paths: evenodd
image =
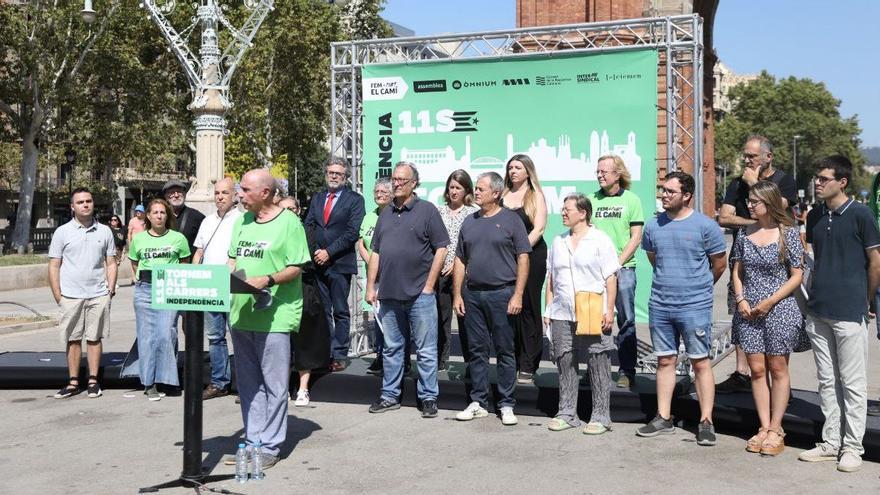
<svg viewBox="0 0 880 495">
<path fill-rule="evenodd" d="M 468 284 L 500 286 L 516 282 L 516 257 L 531 251 L 522 220 L 501 208 L 491 217 L 480 210 L 465 218 L 455 255 L 467 265 Z"/>
</svg>

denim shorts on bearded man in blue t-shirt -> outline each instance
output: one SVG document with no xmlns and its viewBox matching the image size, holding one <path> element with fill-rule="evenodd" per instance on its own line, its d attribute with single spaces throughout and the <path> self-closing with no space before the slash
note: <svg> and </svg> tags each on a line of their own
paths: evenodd
<svg viewBox="0 0 880 495">
<path fill-rule="evenodd" d="M 657 356 L 678 354 L 679 342 L 691 359 L 709 356 L 712 348 L 712 308 L 665 310 L 648 308 L 651 344 Z"/>
</svg>

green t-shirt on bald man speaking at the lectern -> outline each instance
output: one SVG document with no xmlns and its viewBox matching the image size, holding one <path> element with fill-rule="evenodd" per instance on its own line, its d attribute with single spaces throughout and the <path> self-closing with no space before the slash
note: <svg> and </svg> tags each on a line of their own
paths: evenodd
<svg viewBox="0 0 880 495">
<path fill-rule="evenodd" d="M 242 215 L 232 229 L 229 257 L 235 259 L 235 269 L 244 270 L 247 277 L 271 275 L 311 260 L 306 231 L 299 218 L 287 210 L 263 223 L 251 212 Z M 269 290 L 272 305 L 260 310 L 254 309 L 254 296 L 233 294 L 229 326 L 249 332 L 298 332 L 302 279 L 297 277 Z"/>
</svg>

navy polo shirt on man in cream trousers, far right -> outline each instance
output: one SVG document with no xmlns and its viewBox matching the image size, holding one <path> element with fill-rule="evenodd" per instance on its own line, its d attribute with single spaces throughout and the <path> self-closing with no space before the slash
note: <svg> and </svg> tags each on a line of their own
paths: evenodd
<svg viewBox="0 0 880 495">
<path fill-rule="evenodd" d="M 807 307 L 814 315 L 861 322 L 868 314 L 868 249 L 880 246 L 871 210 L 852 199 L 836 210 L 823 203 L 807 215 L 807 242 L 813 244 L 812 289 Z"/>
</svg>

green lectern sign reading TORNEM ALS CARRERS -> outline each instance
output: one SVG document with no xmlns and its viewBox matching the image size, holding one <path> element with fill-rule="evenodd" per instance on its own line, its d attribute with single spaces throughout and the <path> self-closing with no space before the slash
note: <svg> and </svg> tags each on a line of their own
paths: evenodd
<svg viewBox="0 0 880 495">
<path fill-rule="evenodd" d="M 152 289 L 153 309 L 229 312 L 226 265 L 158 265 Z"/>
</svg>

